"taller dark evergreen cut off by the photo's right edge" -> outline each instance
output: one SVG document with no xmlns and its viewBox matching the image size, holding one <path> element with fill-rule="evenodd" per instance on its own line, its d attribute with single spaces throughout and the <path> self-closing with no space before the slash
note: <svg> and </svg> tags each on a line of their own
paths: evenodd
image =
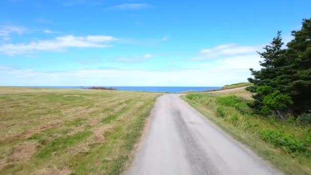
<svg viewBox="0 0 311 175">
<path fill-rule="evenodd" d="M 295 38 L 287 43 L 286 56 L 291 61 L 291 81 L 284 91 L 292 97 L 295 114 L 311 110 L 311 18 L 303 19 L 302 28 L 292 31 Z"/>
</svg>

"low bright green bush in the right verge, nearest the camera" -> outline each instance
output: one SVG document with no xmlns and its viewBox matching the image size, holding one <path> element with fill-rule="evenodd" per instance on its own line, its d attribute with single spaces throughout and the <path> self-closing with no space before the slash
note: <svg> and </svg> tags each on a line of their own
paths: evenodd
<svg viewBox="0 0 311 175">
<path fill-rule="evenodd" d="M 303 143 L 292 135 L 284 134 L 276 130 L 261 130 L 261 138 L 277 147 L 283 147 L 287 152 L 303 152 L 305 147 Z"/>
</svg>

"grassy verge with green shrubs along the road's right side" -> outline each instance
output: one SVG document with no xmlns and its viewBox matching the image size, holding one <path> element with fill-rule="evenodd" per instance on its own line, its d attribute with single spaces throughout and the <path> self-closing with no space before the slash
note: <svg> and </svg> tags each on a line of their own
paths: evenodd
<svg viewBox="0 0 311 175">
<path fill-rule="evenodd" d="M 235 139 L 285 174 L 311 174 L 311 129 L 252 114 L 249 99 L 231 94 L 187 94 L 182 98 Z"/>
</svg>

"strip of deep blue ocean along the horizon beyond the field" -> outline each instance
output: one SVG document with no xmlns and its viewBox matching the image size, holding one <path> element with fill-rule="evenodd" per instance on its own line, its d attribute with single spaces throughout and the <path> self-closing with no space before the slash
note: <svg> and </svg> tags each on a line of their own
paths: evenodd
<svg viewBox="0 0 311 175">
<path fill-rule="evenodd" d="M 81 89 L 82 86 L 23 86 L 30 88 L 65 88 L 65 89 Z M 89 86 L 83 86 L 88 88 Z M 114 88 L 123 91 L 146 91 L 146 92 L 167 92 L 167 93 L 181 93 L 186 91 L 207 91 L 219 90 L 221 87 L 193 87 L 193 86 L 105 86 L 107 88 Z"/>
</svg>

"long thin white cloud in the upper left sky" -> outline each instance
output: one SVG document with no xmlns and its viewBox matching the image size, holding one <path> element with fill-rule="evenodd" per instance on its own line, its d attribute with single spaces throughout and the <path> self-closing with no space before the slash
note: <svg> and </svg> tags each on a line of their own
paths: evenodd
<svg viewBox="0 0 311 175">
<path fill-rule="evenodd" d="M 0 46 L 0 52 L 13 56 L 19 54 L 33 54 L 36 51 L 64 51 L 67 48 L 104 48 L 107 47 L 107 45 L 102 44 L 102 42 L 108 43 L 116 40 L 118 39 L 113 36 L 103 35 L 65 35 L 51 40 L 5 44 Z"/>
</svg>

